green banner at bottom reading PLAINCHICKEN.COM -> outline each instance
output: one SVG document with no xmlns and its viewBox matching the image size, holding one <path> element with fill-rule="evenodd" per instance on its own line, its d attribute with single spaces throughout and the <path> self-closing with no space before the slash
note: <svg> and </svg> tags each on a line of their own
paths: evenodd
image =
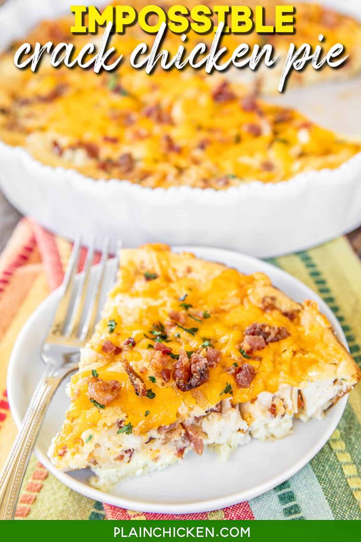
<svg viewBox="0 0 361 542">
<path fill-rule="evenodd" d="M 253 542 L 292 540 L 327 542 L 360 540 L 358 521 L 239 521 L 239 520 L 137 520 L 137 521 L 2 521 L 0 540 L 218 540 Z M 287 538 L 286 538 L 287 537 Z"/>
</svg>

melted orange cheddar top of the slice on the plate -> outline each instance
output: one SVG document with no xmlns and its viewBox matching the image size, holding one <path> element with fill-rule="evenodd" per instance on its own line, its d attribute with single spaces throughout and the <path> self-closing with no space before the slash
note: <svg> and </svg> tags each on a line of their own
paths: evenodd
<svg viewBox="0 0 361 542">
<path fill-rule="evenodd" d="M 267 344 L 257 356 L 245 355 L 240 346 L 247 326 L 255 322 L 284 327 L 289 335 Z M 129 338 L 133 345 L 127 345 Z M 106 341 L 119 351 L 104 352 Z M 157 341 L 171 354 L 154 350 Z M 209 369 L 205 383 L 181 391 L 174 379 L 177 354 L 181 347 L 188 355 L 205 354 L 207 345 L 220 352 L 219 362 Z M 245 363 L 253 366 L 255 377 L 239 388 L 229 369 Z M 136 395 L 124 364 L 152 390 L 150 397 Z M 162 376 L 164 369 L 169 369 L 169 380 Z M 90 401 L 92 370 L 101 380 L 120 383 L 118 395 L 105 408 Z M 123 250 L 119 280 L 71 379 L 71 406 L 54 453 L 61 455 L 65 446 L 75 454 L 89 430 L 104 431 L 119 421 L 130 423 L 134 435 L 146 435 L 186 420 L 196 408 L 207 411 L 221 399 L 246 403 L 285 384 L 303 389 L 318 380 L 344 379 L 353 385 L 359 376 L 317 305 L 297 304 L 266 275 L 243 275 L 192 254 L 171 253 L 163 245 Z"/>
</svg>

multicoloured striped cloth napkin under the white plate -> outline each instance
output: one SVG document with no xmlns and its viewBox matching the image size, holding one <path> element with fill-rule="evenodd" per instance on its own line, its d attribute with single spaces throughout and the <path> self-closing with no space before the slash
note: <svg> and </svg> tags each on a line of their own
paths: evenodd
<svg viewBox="0 0 361 542">
<path fill-rule="evenodd" d="M 6 367 L 29 315 L 62 282 L 71 245 L 23 219 L 0 256 L 0 468 L 16 435 L 6 398 Z M 83 255 L 84 256 L 84 255 Z M 337 315 L 361 363 L 361 263 L 345 238 L 274 259 L 314 289 Z M 361 519 L 361 387 L 350 394 L 330 441 L 298 474 L 272 491 L 208 513 L 150 514 L 96 502 L 65 487 L 32 457 L 17 519 Z"/>
</svg>

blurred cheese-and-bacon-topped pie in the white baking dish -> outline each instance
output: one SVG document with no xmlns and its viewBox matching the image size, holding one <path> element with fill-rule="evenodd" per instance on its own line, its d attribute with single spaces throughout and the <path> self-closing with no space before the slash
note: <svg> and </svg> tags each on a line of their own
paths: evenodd
<svg viewBox="0 0 361 542">
<path fill-rule="evenodd" d="M 70 41 L 78 50 L 89 36 L 69 34 L 70 25 L 69 17 L 44 22 L 28 39 Z M 323 28 L 330 40 L 349 44 L 349 65 L 355 62 L 352 51 L 361 43 L 359 23 L 317 5 L 300 4 L 297 41 L 312 42 Z M 211 42 L 213 35 L 190 33 L 189 49 L 200 38 Z M 267 41 L 275 49 L 287 49 L 293 38 L 267 36 Z M 260 36 L 241 39 L 252 46 Z M 128 57 L 144 40 L 152 43 L 154 36 L 134 25 L 125 35 L 114 35 L 111 44 Z M 239 35 L 225 35 L 222 44 L 233 51 L 239 41 Z M 179 36 L 168 33 L 164 46 L 175 53 Z M 0 137 L 25 147 L 45 164 L 96 179 L 127 179 L 151 188 L 223 190 L 333 169 L 361 150 L 358 143 L 314 125 L 297 111 L 255 99 L 243 83 L 218 74 L 173 69 L 147 75 L 126 61 L 111 74 L 54 69 L 46 62 L 34 74 L 14 67 L 13 52 L 0 59 Z M 267 81 L 274 72 L 267 70 Z M 311 78 L 315 74 L 312 70 Z M 298 82 L 304 77 L 296 74 Z"/>
</svg>

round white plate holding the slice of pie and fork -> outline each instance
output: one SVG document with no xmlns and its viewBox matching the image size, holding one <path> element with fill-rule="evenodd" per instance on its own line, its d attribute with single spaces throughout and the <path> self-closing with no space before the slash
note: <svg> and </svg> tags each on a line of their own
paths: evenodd
<svg viewBox="0 0 361 542">
<path fill-rule="evenodd" d="M 201 247 L 176 247 L 175 250 L 192 251 L 207 260 L 224 262 L 242 273 L 264 272 L 271 277 L 275 286 L 296 301 L 317 301 L 321 312 L 329 318 L 339 339 L 346 345 L 342 328 L 329 307 L 310 288 L 277 267 L 229 250 Z M 112 268 L 114 263 L 110 261 L 109 273 L 114 270 Z M 21 423 L 31 393 L 43 371 L 39 351 L 59 296 L 58 290 L 52 293 L 31 316 L 12 352 L 8 393 L 17 425 Z M 343 414 L 346 402 L 347 398 L 342 398 L 322 421 L 312 420 L 307 424 L 296 421 L 294 434 L 284 440 L 254 440 L 247 446 L 241 446 L 227 463 L 219 463 L 216 455 L 209 450 L 202 457 L 189 454 L 179 465 L 123 481 L 111 493 L 103 493 L 89 486 L 88 469 L 61 473 L 47 458 L 51 438 L 60 429 L 69 404 L 64 383 L 45 417 L 36 455 L 56 478 L 91 499 L 143 512 L 205 512 L 252 499 L 290 478 L 327 442 Z"/>
</svg>

